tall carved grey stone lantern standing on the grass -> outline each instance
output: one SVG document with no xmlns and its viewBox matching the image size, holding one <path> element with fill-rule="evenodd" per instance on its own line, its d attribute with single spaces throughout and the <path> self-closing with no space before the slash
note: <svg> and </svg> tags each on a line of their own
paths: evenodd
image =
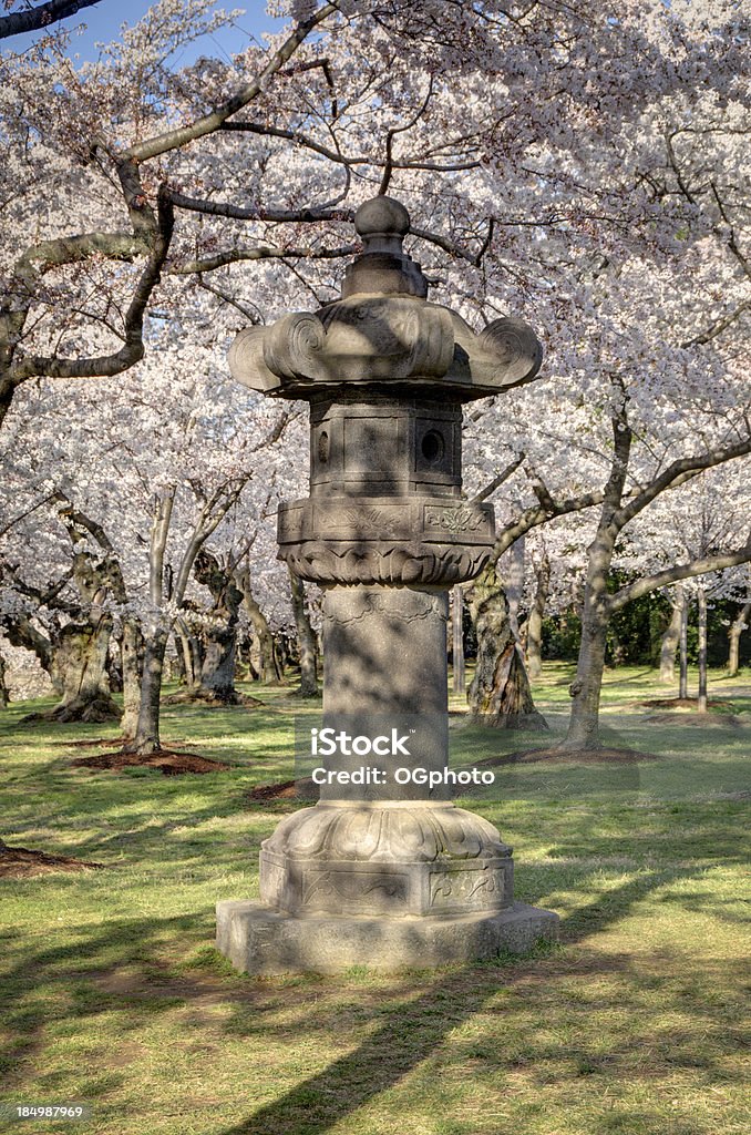
<svg viewBox="0 0 751 1135">
<path fill-rule="evenodd" d="M 542 351 L 520 319 L 475 334 L 428 301 L 399 202 L 366 201 L 355 228 L 341 299 L 242 331 L 229 354 L 244 385 L 310 403 L 310 497 L 281 506 L 279 555 L 323 589 L 323 722 L 339 738 L 319 802 L 262 844 L 261 902 L 218 903 L 218 948 L 252 974 L 437 966 L 557 932 L 514 902 L 510 848 L 441 780 L 448 589 L 495 539 L 492 506 L 462 496 L 462 405 L 531 381 Z M 360 753 L 380 740 L 378 762 L 344 733 Z"/>
</svg>

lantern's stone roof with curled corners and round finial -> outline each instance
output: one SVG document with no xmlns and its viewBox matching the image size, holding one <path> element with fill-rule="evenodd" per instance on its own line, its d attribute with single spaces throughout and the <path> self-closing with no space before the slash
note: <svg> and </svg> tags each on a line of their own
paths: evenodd
<svg viewBox="0 0 751 1135">
<path fill-rule="evenodd" d="M 537 377 L 542 347 L 524 320 L 505 316 L 475 333 L 427 299 L 422 268 L 404 251 L 410 213 L 399 201 L 365 201 L 355 229 L 363 251 L 345 271 L 341 299 L 241 331 L 229 351 L 238 381 L 306 401 L 374 386 L 469 402 Z"/>
</svg>

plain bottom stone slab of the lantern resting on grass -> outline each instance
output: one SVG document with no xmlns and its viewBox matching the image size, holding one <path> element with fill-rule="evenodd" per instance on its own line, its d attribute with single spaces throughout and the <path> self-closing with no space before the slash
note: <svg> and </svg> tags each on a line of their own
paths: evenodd
<svg viewBox="0 0 751 1135">
<path fill-rule="evenodd" d="M 217 949 L 242 973 L 340 974 L 351 966 L 395 973 L 486 961 L 556 941 L 558 915 L 525 902 L 498 914 L 439 918 L 289 915 L 259 902 L 217 903 Z"/>
</svg>

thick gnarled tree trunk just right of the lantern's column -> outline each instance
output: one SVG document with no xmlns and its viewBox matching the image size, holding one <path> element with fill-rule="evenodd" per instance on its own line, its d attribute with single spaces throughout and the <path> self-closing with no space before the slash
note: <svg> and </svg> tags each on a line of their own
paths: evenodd
<svg viewBox="0 0 751 1135">
<path fill-rule="evenodd" d="M 497 729 L 547 729 L 534 708 L 522 651 L 508 619 L 506 595 L 492 565 L 470 592 L 478 665 L 467 695 L 470 716 Z"/>
</svg>

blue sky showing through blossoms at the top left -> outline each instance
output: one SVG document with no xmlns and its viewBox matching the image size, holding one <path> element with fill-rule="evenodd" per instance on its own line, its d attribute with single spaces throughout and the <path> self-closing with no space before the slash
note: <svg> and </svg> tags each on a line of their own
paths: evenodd
<svg viewBox="0 0 751 1135">
<path fill-rule="evenodd" d="M 70 39 L 70 54 L 78 53 L 81 59 L 95 59 L 98 56 L 95 44 L 98 42 L 108 43 L 118 39 L 120 25 L 137 24 L 138 19 L 152 7 L 154 0 L 100 0 L 93 8 L 84 8 L 77 16 L 62 22 L 62 26 L 68 31 L 86 25 L 82 34 L 74 34 Z M 184 48 L 179 62 L 189 64 L 199 56 L 221 56 L 231 54 L 242 50 L 248 42 L 248 37 L 260 39 L 263 32 L 277 31 L 281 25 L 280 20 L 271 19 L 265 12 L 265 0 L 222 0 L 216 8 L 223 8 L 233 11 L 235 8 L 243 8 L 244 16 L 239 16 L 235 27 L 227 28 L 218 35 L 205 36 L 196 40 L 195 43 Z M 22 51 L 35 40 L 41 33 L 33 35 L 16 35 L 6 40 L 1 47 L 5 50 Z"/>
</svg>

